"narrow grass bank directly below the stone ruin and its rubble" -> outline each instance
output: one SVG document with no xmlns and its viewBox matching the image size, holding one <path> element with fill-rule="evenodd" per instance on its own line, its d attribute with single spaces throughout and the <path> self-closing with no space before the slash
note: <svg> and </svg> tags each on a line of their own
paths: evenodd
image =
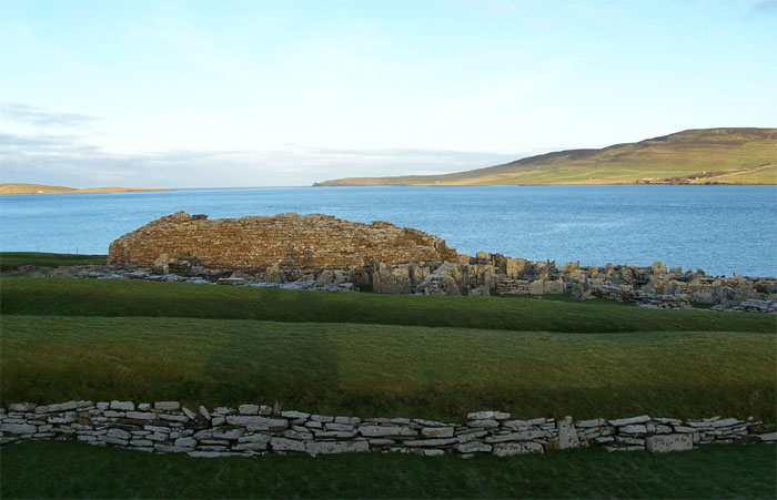
<svg viewBox="0 0 777 500">
<path fill-rule="evenodd" d="M 189 283 L 3 277 L 0 313 L 261 319 L 558 331 L 777 331 L 773 315 L 650 310 L 610 300 L 325 294 Z"/>
</svg>

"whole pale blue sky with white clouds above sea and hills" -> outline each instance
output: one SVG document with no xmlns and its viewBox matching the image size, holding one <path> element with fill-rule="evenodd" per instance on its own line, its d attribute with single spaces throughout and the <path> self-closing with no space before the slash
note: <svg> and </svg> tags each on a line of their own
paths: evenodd
<svg viewBox="0 0 777 500">
<path fill-rule="evenodd" d="M 777 126 L 777 0 L 0 0 L 0 182 L 310 185 Z"/>
</svg>

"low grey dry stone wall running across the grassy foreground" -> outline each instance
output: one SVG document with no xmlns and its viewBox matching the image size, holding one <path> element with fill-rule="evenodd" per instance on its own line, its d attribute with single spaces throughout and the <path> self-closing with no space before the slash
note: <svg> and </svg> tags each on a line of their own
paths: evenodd
<svg viewBox="0 0 777 500">
<path fill-rule="evenodd" d="M 0 445 L 30 439 L 78 440 L 191 457 L 301 452 L 398 452 L 507 457 L 577 447 L 667 452 L 705 445 L 777 442 L 775 425 L 753 418 L 513 419 L 476 411 L 464 424 L 420 418 L 360 418 L 284 411 L 275 405 L 192 410 L 178 401 L 11 404 L 0 409 Z"/>
</svg>

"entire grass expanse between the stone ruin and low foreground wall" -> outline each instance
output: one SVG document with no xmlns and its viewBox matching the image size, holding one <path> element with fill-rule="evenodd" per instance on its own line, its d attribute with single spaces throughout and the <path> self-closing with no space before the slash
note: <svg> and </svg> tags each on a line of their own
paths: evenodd
<svg viewBox="0 0 777 500">
<path fill-rule="evenodd" d="M 22 277 L 0 300 L 7 401 L 775 420 L 770 315 Z"/>
</svg>

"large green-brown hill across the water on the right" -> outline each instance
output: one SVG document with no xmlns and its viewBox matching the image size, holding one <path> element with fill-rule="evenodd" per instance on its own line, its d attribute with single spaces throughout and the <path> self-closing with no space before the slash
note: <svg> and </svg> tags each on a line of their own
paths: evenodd
<svg viewBox="0 0 777 500">
<path fill-rule="evenodd" d="M 777 184 L 777 129 L 699 129 L 442 175 L 349 177 L 316 186 Z"/>
</svg>

